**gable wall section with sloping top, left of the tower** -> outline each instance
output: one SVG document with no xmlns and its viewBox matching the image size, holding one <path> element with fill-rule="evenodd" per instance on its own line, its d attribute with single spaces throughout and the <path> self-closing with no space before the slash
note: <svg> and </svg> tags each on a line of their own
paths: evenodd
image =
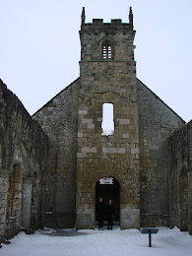
<svg viewBox="0 0 192 256">
<path fill-rule="evenodd" d="M 50 227 L 75 226 L 80 86 L 78 79 L 33 115 L 49 137 L 45 224 Z"/>
</svg>

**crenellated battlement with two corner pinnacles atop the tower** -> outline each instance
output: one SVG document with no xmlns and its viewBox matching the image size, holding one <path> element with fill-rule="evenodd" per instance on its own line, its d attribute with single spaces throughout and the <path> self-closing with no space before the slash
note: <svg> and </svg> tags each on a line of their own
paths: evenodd
<svg viewBox="0 0 192 256">
<path fill-rule="evenodd" d="M 130 7 L 129 23 L 122 23 L 121 19 L 112 19 L 110 23 L 103 23 L 103 19 L 93 19 L 93 23 L 86 24 L 85 7 L 82 11 L 81 31 L 133 31 L 133 13 Z"/>
</svg>

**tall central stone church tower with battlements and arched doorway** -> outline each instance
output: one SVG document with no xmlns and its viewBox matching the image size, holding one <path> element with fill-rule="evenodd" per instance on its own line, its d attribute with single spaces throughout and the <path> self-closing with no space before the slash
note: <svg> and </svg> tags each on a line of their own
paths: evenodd
<svg viewBox="0 0 192 256">
<path fill-rule="evenodd" d="M 85 10 L 82 13 L 78 228 L 95 227 L 96 182 L 102 177 L 112 177 L 119 183 L 119 195 L 108 196 L 120 200 L 121 227 L 140 226 L 139 126 L 131 9 L 129 18 L 129 24 L 122 24 L 121 20 L 104 24 L 100 19 L 86 24 Z M 113 109 L 114 132 L 108 136 L 101 129 L 105 103 Z"/>
</svg>

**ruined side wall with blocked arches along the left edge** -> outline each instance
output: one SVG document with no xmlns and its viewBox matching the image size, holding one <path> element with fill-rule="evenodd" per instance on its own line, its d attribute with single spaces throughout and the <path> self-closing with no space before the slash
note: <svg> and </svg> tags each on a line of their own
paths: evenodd
<svg viewBox="0 0 192 256">
<path fill-rule="evenodd" d="M 43 194 L 32 198 L 36 171 L 43 186 L 47 136 L 17 96 L 0 81 L 0 236 L 11 237 L 21 225 L 43 223 Z M 32 212 L 33 201 L 37 202 Z"/>
</svg>

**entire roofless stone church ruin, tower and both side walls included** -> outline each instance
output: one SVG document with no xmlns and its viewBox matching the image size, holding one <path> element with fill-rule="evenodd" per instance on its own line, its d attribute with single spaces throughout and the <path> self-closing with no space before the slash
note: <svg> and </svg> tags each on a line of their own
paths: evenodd
<svg viewBox="0 0 192 256">
<path fill-rule="evenodd" d="M 128 18 L 87 24 L 83 8 L 80 77 L 33 116 L 0 81 L 1 237 L 95 228 L 99 197 L 122 229 L 192 233 L 192 122 L 136 77 Z"/>
</svg>

